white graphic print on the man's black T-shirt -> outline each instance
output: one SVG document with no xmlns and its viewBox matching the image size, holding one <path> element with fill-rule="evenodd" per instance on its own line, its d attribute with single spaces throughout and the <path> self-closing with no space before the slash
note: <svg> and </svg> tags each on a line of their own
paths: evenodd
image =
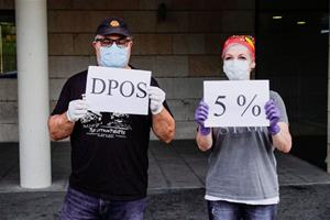
<svg viewBox="0 0 330 220">
<path fill-rule="evenodd" d="M 123 113 L 101 113 L 88 111 L 80 122 L 86 131 L 86 135 L 96 135 L 98 138 L 125 139 L 128 132 L 132 130 L 129 123 L 129 114 Z"/>
</svg>

